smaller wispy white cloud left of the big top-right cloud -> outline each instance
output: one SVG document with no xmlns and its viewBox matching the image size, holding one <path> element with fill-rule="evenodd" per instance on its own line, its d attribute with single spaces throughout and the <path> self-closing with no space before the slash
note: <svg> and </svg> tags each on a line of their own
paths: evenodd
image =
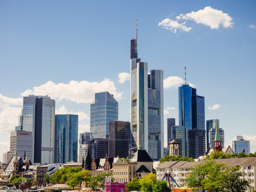
<svg viewBox="0 0 256 192">
<path fill-rule="evenodd" d="M 169 18 L 162 20 L 158 23 L 158 26 L 163 26 L 163 28 L 174 31 L 174 33 L 177 33 L 177 29 L 183 30 L 185 32 L 190 31 L 191 27 L 185 26 L 186 22 L 179 23 L 178 21 L 171 20 Z"/>
</svg>

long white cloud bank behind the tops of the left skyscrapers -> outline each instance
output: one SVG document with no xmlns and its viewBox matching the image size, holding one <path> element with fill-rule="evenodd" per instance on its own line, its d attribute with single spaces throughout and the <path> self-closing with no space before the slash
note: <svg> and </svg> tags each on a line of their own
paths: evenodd
<svg viewBox="0 0 256 192">
<path fill-rule="evenodd" d="M 70 81 L 68 84 L 55 84 L 49 81 L 41 86 L 35 86 L 33 90 L 26 90 L 21 93 L 21 96 L 34 95 L 49 95 L 52 99 L 70 100 L 76 103 L 91 103 L 94 101 L 94 94 L 98 92 L 108 91 L 114 94 L 115 99 L 121 99 L 123 93 L 116 90 L 114 82 L 105 79 L 102 82 L 87 82 L 87 81 Z"/>
</svg>

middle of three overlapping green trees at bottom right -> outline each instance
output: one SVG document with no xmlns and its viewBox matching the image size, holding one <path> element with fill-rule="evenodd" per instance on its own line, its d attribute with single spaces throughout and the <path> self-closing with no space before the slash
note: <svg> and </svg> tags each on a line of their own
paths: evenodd
<svg viewBox="0 0 256 192">
<path fill-rule="evenodd" d="M 210 189 L 213 192 L 219 192 L 223 190 L 222 187 L 222 174 L 225 169 L 224 163 L 213 164 L 210 173 L 206 175 L 206 178 L 202 180 L 202 184 L 205 189 Z"/>
</svg>

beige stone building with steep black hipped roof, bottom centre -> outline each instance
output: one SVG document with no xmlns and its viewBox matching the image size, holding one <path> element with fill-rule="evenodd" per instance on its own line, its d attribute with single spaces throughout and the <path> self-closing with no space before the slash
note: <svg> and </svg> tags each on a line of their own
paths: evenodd
<svg viewBox="0 0 256 192">
<path fill-rule="evenodd" d="M 127 162 L 113 163 L 113 178 L 115 182 L 129 182 L 135 177 L 141 179 L 153 171 L 153 160 L 146 150 L 138 150 Z"/>
</svg>

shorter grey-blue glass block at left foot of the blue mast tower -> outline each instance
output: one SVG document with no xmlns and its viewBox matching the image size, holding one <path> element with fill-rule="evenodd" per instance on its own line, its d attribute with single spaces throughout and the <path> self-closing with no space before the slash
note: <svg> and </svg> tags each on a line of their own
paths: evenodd
<svg viewBox="0 0 256 192">
<path fill-rule="evenodd" d="M 175 139 L 180 143 L 179 155 L 185 157 L 187 154 L 187 139 L 186 139 L 186 128 L 185 126 L 172 126 L 171 127 L 171 141 Z"/>
</svg>

